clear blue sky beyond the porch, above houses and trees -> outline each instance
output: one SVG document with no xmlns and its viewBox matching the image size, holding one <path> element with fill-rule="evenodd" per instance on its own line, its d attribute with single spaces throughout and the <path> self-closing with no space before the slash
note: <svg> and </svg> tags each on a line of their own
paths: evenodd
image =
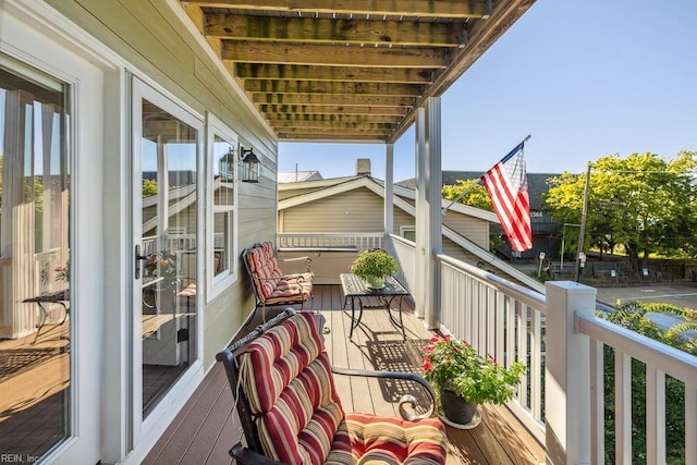
<svg viewBox="0 0 697 465">
<path fill-rule="evenodd" d="M 697 1 L 538 0 L 442 96 L 443 170 L 485 171 L 527 134 L 527 171 L 580 173 L 607 155 L 697 151 Z M 281 143 L 281 171 L 352 175 L 384 146 Z M 394 179 L 414 176 L 414 130 Z"/>
</svg>

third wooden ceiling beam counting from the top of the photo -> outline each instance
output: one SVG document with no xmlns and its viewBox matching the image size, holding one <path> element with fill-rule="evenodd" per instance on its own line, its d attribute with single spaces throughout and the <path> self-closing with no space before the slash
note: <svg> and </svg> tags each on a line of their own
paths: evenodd
<svg viewBox="0 0 697 465">
<path fill-rule="evenodd" d="M 325 66 L 445 68 L 444 49 L 268 44 L 223 40 L 222 59 L 247 63 L 320 64 Z"/>
</svg>

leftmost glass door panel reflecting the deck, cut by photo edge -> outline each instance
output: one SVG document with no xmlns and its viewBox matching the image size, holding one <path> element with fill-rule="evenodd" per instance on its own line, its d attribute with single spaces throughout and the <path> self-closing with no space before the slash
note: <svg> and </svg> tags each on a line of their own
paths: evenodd
<svg viewBox="0 0 697 465">
<path fill-rule="evenodd" d="M 30 463 L 72 424 L 70 117 L 65 86 L 0 63 L 0 462 Z"/>
</svg>

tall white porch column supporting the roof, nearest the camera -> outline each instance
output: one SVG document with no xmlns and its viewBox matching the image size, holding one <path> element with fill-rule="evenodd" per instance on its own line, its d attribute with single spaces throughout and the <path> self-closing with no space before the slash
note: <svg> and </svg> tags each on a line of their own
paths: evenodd
<svg viewBox="0 0 697 465">
<path fill-rule="evenodd" d="M 440 314 L 442 252 L 440 98 L 429 97 L 416 112 L 416 311 L 429 327 Z"/>
</svg>

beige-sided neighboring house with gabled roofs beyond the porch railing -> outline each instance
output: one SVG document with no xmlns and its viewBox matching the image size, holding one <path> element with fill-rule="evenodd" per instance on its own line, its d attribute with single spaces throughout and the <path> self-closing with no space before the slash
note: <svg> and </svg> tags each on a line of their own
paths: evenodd
<svg viewBox="0 0 697 465">
<path fill-rule="evenodd" d="M 365 171 L 364 171 L 365 172 Z M 414 189 L 394 186 L 393 230 L 391 233 L 415 240 Z M 442 200 L 442 208 L 450 200 Z M 279 184 L 279 233 L 381 233 L 383 222 L 384 185 L 369 175 L 326 179 L 302 183 Z M 543 287 L 525 273 L 489 253 L 490 229 L 498 224 L 491 211 L 454 204 L 443 222 L 443 253 L 463 261 L 485 267 L 536 290 Z M 290 250 L 284 250 L 290 253 Z M 297 254 L 295 254 L 297 255 Z M 319 265 L 317 283 L 338 283 L 341 268 L 347 269 L 352 254 L 323 253 L 314 258 L 330 256 L 343 260 L 339 267 Z M 328 272 L 329 271 L 329 272 Z"/>
</svg>

